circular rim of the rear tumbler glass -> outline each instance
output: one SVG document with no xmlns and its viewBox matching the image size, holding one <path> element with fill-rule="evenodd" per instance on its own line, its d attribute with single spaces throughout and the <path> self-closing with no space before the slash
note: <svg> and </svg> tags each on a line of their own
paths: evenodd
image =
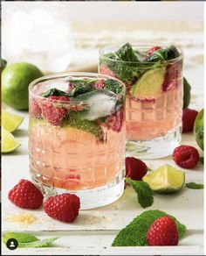
<svg viewBox="0 0 206 256">
<path fill-rule="evenodd" d="M 122 43 L 122 44 L 113 44 L 113 45 L 107 45 L 107 46 L 104 46 L 102 47 L 100 50 L 99 50 L 99 55 L 100 57 L 102 58 L 105 58 L 106 60 L 111 60 L 113 62 L 116 62 L 116 63 L 127 63 L 127 64 L 137 64 L 139 62 L 136 62 L 136 61 L 125 61 L 125 60 L 113 60 L 112 58 L 109 58 L 109 57 L 106 57 L 103 53 L 106 49 L 109 50 L 111 49 L 111 51 L 113 50 L 113 48 L 115 47 L 120 47 L 120 46 L 123 46 L 125 43 Z M 134 46 L 134 49 L 137 49 L 138 47 L 153 47 L 154 45 L 155 46 L 160 46 L 160 47 L 168 47 L 168 46 L 175 46 L 178 50 L 178 52 L 180 53 L 180 55 L 174 59 L 171 59 L 171 60 L 163 60 L 163 62 L 167 62 L 167 63 L 174 63 L 174 62 L 177 62 L 179 60 L 182 60 L 183 58 L 183 51 L 182 51 L 182 48 L 180 48 L 179 46 L 176 46 L 175 44 L 170 44 L 170 45 L 166 45 L 166 44 L 161 44 L 161 43 L 155 43 L 154 45 L 138 45 L 138 44 L 135 44 L 135 43 L 131 43 L 132 46 Z M 112 52 L 111 52 L 112 53 Z M 154 64 L 154 62 L 149 62 L 149 61 L 141 61 L 142 64 Z M 132 67 L 131 67 L 132 68 Z"/>
</svg>

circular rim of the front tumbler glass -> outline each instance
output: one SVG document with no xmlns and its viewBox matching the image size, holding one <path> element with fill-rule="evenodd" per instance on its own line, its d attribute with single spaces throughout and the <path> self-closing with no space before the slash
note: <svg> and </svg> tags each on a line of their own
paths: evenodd
<svg viewBox="0 0 206 256">
<path fill-rule="evenodd" d="M 88 76 L 88 77 L 96 77 L 96 78 L 106 78 L 106 79 L 113 79 L 113 80 L 115 80 L 115 81 L 117 81 L 117 82 L 119 82 L 120 83 L 120 85 L 121 85 L 121 87 L 122 87 L 122 90 L 120 91 L 120 93 L 119 94 L 115 94 L 115 93 L 113 93 L 112 91 L 109 91 L 109 92 L 111 92 L 111 93 L 113 93 L 113 96 L 111 96 L 111 97 L 117 97 L 117 96 L 124 96 L 125 95 L 125 93 L 126 93 L 126 86 L 125 86 L 125 84 L 124 84 L 124 82 L 121 82 L 118 78 L 115 78 L 115 77 L 113 77 L 113 76 L 110 76 L 110 75 L 103 75 L 103 74 L 100 74 L 100 73 L 92 73 L 92 72 L 63 72 L 63 73 L 54 73 L 54 74 L 51 74 L 51 75 L 44 75 L 44 76 L 41 76 L 41 77 L 39 77 L 38 79 L 35 79 L 35 80 L 33 80 L 30 84 L 29 84 L 29 96 L 32 96 L 32 97 L 35 97 L 35 98 L 38 98 L 38 99 L 44 99 L 44 100 L 48 100 L 48 101 L 50 101 L 51 103 L 53 102 L 53 103 L 65 103 L 65 104 L 68 104 L 68 103 L 71 103 L 70 101 L 69 102 L 65 102 L 65 101 L 60 101 L 60 100 L 55 100 L 55 99 L 49 99 L 49 98 L 46 98 L 46 97 L 44 97 L 44 96 L 40 96 L 40 95 L 38 95 L 37 93 L 35 93 L 35 92 L 33 92 L 32 91 L 32 89 L 33 89 L 33 87 L 35 86 L 35 85 L 37 85 L 38 83 L 40 83 L 40 82 L 46 82 L 46 81 L 49 81 L 49 80 L 51 80 L 52 81 L 52 79 L 55 79 L 55 78 L 63 78 L 63 77 L 66 77 L 66 76 L 74 76 L 75 77 L 75 75 L 76 76 L 79 76 L 79 78 L 80 77 L 86 77 L 86 76 Z M 98 90 L 98 89 L 96 89 L 96 91 L 101 91 L 101 90 Z M 89 92 L 88 92 L 89 93 Z M 82 94 L 83 95 L 83 94 Z M 81 95 L 79 95 L 79 96 L 81 96 Z M 70 98 L 77 98 L 77 97 L 73 97 L 73 96 L 71 96 Z M 100 101 L 100 100 L 93 100 L 93 103 L 94 102 L 98 102 L 98 101 Z M 82 102 L 82 103 L 88 103 L 89 101 L 86 101 L 86 100 L 80 100 L 79 102 Z"/>
</svg>

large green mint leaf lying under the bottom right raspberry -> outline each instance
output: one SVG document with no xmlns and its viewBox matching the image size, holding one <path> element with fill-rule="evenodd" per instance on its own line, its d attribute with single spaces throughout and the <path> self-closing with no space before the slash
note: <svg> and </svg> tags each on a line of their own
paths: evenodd
<svg viewBox="0 0 206 256">
<path fill-rule="evenodd" d="M 113 240 L 112 246 L 145 246 L 147 245 L 147 232 L 154 220 L 159 217 L 168 216 L 174 219 L 179 238 L 183 238 L 186 232 L 185 225 L 181 224 L 175 217 L 161 210 L 147 210 L 122 229 Z"/>
</svg>

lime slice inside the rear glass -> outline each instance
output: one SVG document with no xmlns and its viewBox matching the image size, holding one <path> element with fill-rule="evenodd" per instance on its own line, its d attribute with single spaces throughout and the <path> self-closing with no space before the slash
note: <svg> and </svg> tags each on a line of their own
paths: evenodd
<svg viewBox="0 0 206 256">
<path fill-rule="evenodd" d="M 146 71 L 141 78 L 134 83 L 130 93 L 138 98 L 155 98 L 161 94 L 164 82 L 165 68 L 154 68 Z"/>
</svg>

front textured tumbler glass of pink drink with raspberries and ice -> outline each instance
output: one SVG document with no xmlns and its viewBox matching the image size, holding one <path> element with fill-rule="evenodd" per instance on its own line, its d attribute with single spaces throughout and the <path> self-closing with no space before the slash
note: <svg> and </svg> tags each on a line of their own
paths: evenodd
<svg viewBox="0 0 206 256">
<path fill-rule="evenodd" d="M 79 196 L 80 209 L 124 190 L 125 86 L 107 75 L 67 73 L 31 82 L 32 180 L 46 195 Z"/>
</svg>

